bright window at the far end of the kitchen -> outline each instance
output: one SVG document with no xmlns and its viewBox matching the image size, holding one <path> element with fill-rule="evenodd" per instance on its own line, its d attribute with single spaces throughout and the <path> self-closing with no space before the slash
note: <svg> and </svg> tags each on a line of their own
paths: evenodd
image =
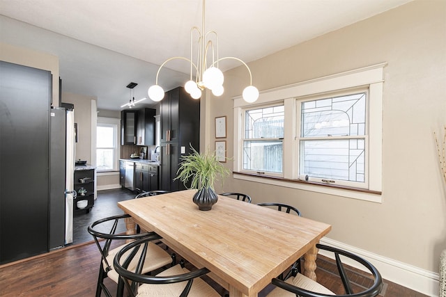
<svg viewBox="0 0 446 297">
<path fill-rule="evenodd" d="M 118 170 L 118 119 L 98 118 L 96 125 L 96 168 Z"/>
</svg>

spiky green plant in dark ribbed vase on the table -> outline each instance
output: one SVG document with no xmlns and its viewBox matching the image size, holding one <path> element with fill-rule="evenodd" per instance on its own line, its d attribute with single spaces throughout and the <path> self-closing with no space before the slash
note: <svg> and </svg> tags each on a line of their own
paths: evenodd
<svg viewBox="0 0 446 297">
<path fill-rule="evenodd" d="M 192 145 L 192 154 L 181 157 L 180 168 L 177 177 L 186 184 L 191 179 L 190 187 L 197 189 L 192 201 L 198 205 L 199 210 L 208 211 L 213 204 L 217 203 L 218 197 L 214 191 L 213 184 L 217 177 L 229 175 L 229 170 L 217 160 L 215 152 L 200 154 Z"/>
</svg>

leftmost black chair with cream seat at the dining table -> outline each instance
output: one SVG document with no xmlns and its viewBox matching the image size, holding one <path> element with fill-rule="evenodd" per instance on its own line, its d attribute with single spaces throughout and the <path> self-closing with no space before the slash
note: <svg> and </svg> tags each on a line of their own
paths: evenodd
<svg viewBox="0 0 446 297">
<path fill-rule="evenodd" d="M 96 297 L 100 297 L 101 291 L 104 291 L 106 296 L 112 296 L 109 289 L 107 289 L 104 284 L 104 279 L 107 277 L 118 284 L 118 294 L 119 292 L 121 292 L 122 294 L 123 282 L 120 281 L 118 273 L 116 273 L 113 268 L 114 255 L 116 255 L 116 253 L 121 250 L 123 246 L 125 246 L 125 241 L 142 239 L 146 236 L 154 234 L 153 232 L 144 232 L 134 235 L 123 233 L 119 234 L 119 231 L 117 232 L 118 225 L 121 225 L 121 229 L 125 228 L 123 220 L 129 217 L 130 215 L 123 214 L 118 216 L 111 216 L 108 218 L 102 218 L 95 221 L 88 227 L 89 233 L 93 236 L 93 239 L 96 243 L 96 246 L 98 246 L 101 255 L 98 284 L 96 287 Z M 121 221 L 122 223 L 120 223 Z M 113 247 L 117 246 L 116 248 L 112 248 L 112 242 Z M 176 263 L 176 257 L 174 254 L 169 255 L 168 252 L 166 252 L 156 244 L 151 244 L 149 246 L 146 256 L 150 257 L 151 261 L 147 262 L 147 264 L 144 264 L 144 267 L 141 268 L 141 270 L 145 271 L 145 273 L 153 271 L 157 268 L 161 268 L 163 266 L 173 266 Z M 136 264 L 134 262 L 130 263 L 130 268 L 134 269 L 134 267 L 136 267 Z"/>
</svg>

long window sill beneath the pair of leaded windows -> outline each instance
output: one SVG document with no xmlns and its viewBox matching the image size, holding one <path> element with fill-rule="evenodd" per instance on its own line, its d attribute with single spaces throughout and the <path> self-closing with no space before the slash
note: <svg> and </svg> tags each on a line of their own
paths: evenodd
<svg viewBox="0 0 446 297">
<path fill-rule="evenodd" d="M 370 191 L 364 188 L 351 188 L 348 186 L 322 184 L 318 182 L 305 182 L 298 179 L 285 179 L 283 177 L 271 177 L 266 175 L 254 175 L 245 172 L 233 172 L 233 178 L 243 179 L 249 182 L 260 182 L 286 188 L 297 188 L 304 191 L 337 195 L 345 198 L 353 198 L 370 202 L 383 202 L 382 192 Z"/>
</svg>

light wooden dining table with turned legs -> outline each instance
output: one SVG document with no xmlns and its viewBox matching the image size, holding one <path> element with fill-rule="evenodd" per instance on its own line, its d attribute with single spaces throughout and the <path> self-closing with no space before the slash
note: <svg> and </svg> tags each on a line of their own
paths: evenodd
<svg viewBox="0 0 446 297">
<path fill-rule="evenodd" d="M 229 296 L 257 296 L 259 291 L 305 257 L 302 273 L 316 280 L 316 243 L 331 226 L 282 211 L 219 195 L 210 211 L 192 202 L 195 190 L 118 202 L 144 230 L 162 241 L 229 291 Z"/>
</svg>

